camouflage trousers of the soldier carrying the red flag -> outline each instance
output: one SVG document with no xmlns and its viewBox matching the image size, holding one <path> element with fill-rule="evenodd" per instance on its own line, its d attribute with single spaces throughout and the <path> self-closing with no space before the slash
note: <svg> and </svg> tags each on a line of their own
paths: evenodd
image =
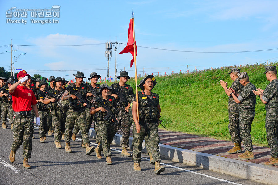
<svg viewBox="0 0 278 185">
<path fill-rule="evenodd" d="M 140 133 L 137 133 L 135 125 L 133 126 L 133 159 L 135 163 L 141 162 L 142 143 L 145 137 L 148 137 L 150 153 L 152 153 L 154 162 L 161 161 L 159 152 L 160 138 L 158 135 L 157 122 L 140 122 Z"/>
</svg>

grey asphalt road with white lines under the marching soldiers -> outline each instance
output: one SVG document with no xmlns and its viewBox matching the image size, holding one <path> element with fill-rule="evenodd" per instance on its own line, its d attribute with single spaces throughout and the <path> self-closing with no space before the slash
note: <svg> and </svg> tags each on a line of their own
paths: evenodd
<svg viewBox="0 0 278 185">
<path fill-rule="evenodd" d="M 99 160 L 92 153 L 85 155 L 85 149 L 80 147 L 80 136 L 76 141 L 71 141 L 73 153 L 56 149 L 54 135 L 47 136 L 45 143 L 40 143 L 38 128 L 35 128 L 32 157 L 29 164 L 32 169 L 22 168 L 22 146 L 16 153 L 15 162 L 9 161 L 10 146 L 12 143 L 12 131 L 0 127 L 0 185 L 40 185 L 40 184 L 190 184 L 190 185 L 261 185 L 254 181 L 239 179 L 227 174 L 221 174 L 195 166 L 188 166 L 170 160 L 162 159 L 166 170 L 154 175 L 154 165 L 149 161 L 141 161 L 141 172 L 133 170 L 131 158 L 120 155 L 120 147 L 112 146 L 113 165 L 106 165 L 105 159 Z M 92 143 L 94 139 L 90 139 Z M 148 157 L 145 154 L 143 157 Z"/>
</svg>

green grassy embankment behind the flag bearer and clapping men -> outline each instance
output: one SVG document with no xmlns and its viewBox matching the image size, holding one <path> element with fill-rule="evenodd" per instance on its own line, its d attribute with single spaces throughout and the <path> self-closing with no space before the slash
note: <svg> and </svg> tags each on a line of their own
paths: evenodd
<svg viewBox="0 0 278 185">
<path fill-rule="evenodd" d="M 277 61 L 271 65 L 277 65 Z M 250 81 L 264 89 L 267 81 L 264 64 L 233 66 L 246 71 Z M 156 76 L 157 85 L 153 92 L 160 97 L 161 116 L 167 130 L 192 133 L 217 139 L 230 140 L 228 132 L 228 96 L 219 80 L 232 84 L 230 67 Z M 138 82 L 142 79 L 137 79 Z M 108 85 L 113 82 L 107 82 Z M 135 78 L 128 80 L 135 92 Z M 267 145 L 265 132 L 265 105 L 257 97 L 255 118 L 251 126 L 254 144 Z M 161 127 L 161 126 L 160 126 Z M 161 127 L 162 128 L 162 127 Z"/>
</svg>

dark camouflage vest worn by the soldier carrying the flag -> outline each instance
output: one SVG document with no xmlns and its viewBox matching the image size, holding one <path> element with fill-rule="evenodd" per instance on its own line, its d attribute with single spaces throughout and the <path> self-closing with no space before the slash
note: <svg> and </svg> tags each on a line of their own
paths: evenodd
<svg viewBox="0 0 278 185">
<path fill-rule="evenodd" d="M 139 110 L 139 119 L 150 121 L 150 120 L 158 120 L 157 114 L 158 114 L 158 94 L 152 93 L 151 95 L 153 98 L 150 99 L 145 94 L 145 92 L 138 92 L 138 101 L 139 101 L 139 109 L 141 108 L 141 115 Z"/>
</svg>

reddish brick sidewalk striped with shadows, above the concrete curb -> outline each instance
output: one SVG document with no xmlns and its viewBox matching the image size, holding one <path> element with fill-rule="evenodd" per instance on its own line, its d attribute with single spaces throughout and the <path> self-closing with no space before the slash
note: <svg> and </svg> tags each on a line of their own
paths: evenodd
<svg viewBox="0 0 278 185">
<path fill-rule="evenodd" d="M 133 125 L 130 129 L 130 136 L 132 136 L 132 128 Z M 118 131 L 118 133 L 121 134 L 121 131 Z M 161 144 L 238 160 L 238 153 L 227 154 L 227 151 L 234 146 L 231 141 L 217 140 L 209 137 L 200 137 L 192 134 L 172 132 L 162 129 L 158 129 L 158 133 L 160 136 Z M 270 148 L 254 145 L 253 148 L 255 159 L 246 160 L 247 162 L 263 164 L 264 162 L 268 161 L 268 159 L 270 158 Z M 242 150 L 244 150 L 243 145 Z"/>
</svg>

